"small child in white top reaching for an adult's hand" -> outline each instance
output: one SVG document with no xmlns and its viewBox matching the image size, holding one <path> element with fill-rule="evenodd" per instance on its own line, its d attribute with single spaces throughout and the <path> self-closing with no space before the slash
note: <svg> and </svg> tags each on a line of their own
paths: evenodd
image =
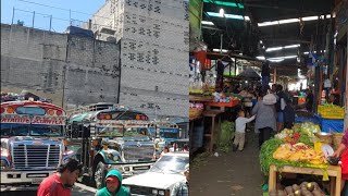
<svg viewBox="0 0 348 196">
<path fill-rule="evenodd" d="M 238 150 L 241 151 L 244 149 L 244 144 L 246 142 L 246 124 L 253 121 L 256 115 L 251 118 L 245 118 L 245 113 L 243 110 L 238 112 L 238 118 L 236 119 L 236 133 L 235 139 L 233 143 L 233 151 L 236 151 L 237 147 Z"/>
</svg>

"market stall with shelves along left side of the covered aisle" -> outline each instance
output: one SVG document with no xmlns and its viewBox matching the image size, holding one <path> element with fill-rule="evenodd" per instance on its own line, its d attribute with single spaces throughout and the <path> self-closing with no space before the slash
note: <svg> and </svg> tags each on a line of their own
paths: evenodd
<svg viewBox="0 0 348 196">
<path fill-rule="evenodd" d="M 222 121 L 231 119 L 222 117 L 226 115 L 228 109 L 239 105 L 239 99 L 232 94 L 216 93 L 215 71 L 202 68 L 206 66 L 201 66 L 201 62 L 192 57 L 189 83 L 191 154 L 201 147 L 210 152 L 214 150 L 220 143 Z"/>
</svg>

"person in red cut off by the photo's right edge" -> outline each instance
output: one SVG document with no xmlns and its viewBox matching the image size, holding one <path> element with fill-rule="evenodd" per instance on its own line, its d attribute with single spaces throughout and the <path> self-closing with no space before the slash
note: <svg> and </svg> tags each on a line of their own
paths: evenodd
<svg viewBox="0 0 348 196">
<path fill-rule="evenodd" d="M 341 189 L 343 189 L 346 181 L 348 180 L 348 128 L 345 131 L 345 135 L 341 138 L 341 143 L 338 146 L 337 150 L 334 152 L 333 157 L 340 157 Z"/>
</svg>

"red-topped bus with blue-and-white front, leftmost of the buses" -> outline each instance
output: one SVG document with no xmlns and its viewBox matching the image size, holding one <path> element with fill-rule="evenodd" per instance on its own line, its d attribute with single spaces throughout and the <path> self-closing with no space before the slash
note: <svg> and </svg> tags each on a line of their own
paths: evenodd
<svg viewBox="0 0 348 196">
<path fill-rule="evenodd" d="M 36 186 L 74 157 L 64 147 L 65 122 L 65 111 L 51 103 L 2 102 L 1 185 Z"/>
</svg>

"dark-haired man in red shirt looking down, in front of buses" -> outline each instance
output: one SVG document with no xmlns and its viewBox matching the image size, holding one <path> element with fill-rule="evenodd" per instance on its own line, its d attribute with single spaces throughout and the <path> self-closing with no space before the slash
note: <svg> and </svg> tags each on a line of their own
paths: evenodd
<svg viewBox="0 0 348 196">
<path fill-rule="evenodd" d="M 69 159 L 40 183 L 37 196 L 71 196 L 71 187 L 77 181 L 82 168 L 76 159 Z"/>
</svg>

